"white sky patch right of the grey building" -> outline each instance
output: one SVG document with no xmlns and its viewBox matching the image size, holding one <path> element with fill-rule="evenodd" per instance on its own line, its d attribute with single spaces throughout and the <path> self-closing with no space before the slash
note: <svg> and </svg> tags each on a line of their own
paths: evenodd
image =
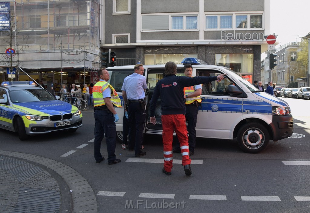
<svg viewBox="0 0 310 213">
<path fill-rule="evenodd" d="M 270 0 L 270 34 L 278 35 L 276 46 L 300 42 L 310 32 L 309 0 Z"/>
</svg>

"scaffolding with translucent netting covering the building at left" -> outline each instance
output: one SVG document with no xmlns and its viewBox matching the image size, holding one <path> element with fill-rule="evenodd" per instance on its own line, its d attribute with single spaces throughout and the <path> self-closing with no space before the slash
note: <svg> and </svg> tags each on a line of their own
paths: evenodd
<svg viewBox="0 0 310 213">
<path fill-rule="evenodd" d="M 39 72 L 80 71 L 84 78 L 100 68 L 99 0 L 16 0 L 9 5 L 15 24 L 14 66 Z M 2 60 L 7 57 L 6 41 L 7 31 L 0 31 L 0 67 L 8 67 Z"/>
</svg>

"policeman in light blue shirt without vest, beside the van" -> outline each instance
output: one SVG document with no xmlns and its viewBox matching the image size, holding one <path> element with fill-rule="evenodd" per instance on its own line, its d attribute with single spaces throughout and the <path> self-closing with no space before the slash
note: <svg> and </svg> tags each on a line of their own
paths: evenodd
<svg viewBox="0 0 310 213">
<path fill-rule="evenodd" d="M 145 124 L 145 89 L 148 88 L 143 76 L 143 64 L 136 64 L 134 73 L 124 79 L 122 95 L 128 106 L 129 142 L 128 150 L 135 150 L 135 157 L 146 154 L 142 151 L 143 128 Z"/>
</svg>

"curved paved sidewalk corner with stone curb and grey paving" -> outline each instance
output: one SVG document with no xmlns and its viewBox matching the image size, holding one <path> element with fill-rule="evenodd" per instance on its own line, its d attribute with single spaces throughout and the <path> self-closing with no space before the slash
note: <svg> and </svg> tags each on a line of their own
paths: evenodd
<svg viewBox="0 0 310 213">
<path fill-rule="evenodd" d="M 71 167 L 0 150 L 0 212 L 97 213 L 91 186 Z"/>
</svg>

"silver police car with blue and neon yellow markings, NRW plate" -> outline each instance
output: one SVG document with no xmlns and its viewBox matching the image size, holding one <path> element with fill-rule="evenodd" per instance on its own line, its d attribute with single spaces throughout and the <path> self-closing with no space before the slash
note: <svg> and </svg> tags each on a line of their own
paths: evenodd
<svg viewBox="0 0 310 213">
<path fill-rule="evenodd" d="M 76 131 L 82 126 L 81 111 L 34 82 L 2 82 L 0 129 L 18 132 L 20 140 L 30 135 L 59 130 Z"/>
</svg>

